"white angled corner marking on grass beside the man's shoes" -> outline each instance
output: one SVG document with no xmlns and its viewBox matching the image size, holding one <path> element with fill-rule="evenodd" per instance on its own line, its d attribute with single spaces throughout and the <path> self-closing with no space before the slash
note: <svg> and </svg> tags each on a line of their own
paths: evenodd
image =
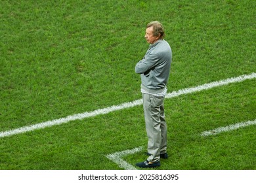
<svg viewBox="0 0 256 183">
<path fill-rule="evenodd" d="M 115 152 L 113 154 L 106 155 L 106 158 L 110 159 L 111 161 L 114 161 L 114 163 L 116 163 L 120 168 L 123 168 L 125 170 L 137 170 L 135 167 L 133 167 L 133 165 L 123 160 L 122 157 L 127 156 L 128 154 L 135 154 L 137 152 L 140 152 L 141 150 L 142 150 L 142 147 L 133 148 L 132 150 Z"/>
</svg>

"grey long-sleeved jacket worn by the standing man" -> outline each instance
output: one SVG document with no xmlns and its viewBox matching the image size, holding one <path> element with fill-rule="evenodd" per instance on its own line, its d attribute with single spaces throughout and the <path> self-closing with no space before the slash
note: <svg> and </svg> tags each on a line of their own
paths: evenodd
<svg viewBox="0 0 256 183">
<path fill-rule="evenodd" d="M 171 69 L 172 52 L 168 42 L 160 39 L 150 48 L 135 66 L 140 74 L 141 87 L 150 93 L 161 93 L 168 82 Z"/>
</svg>

